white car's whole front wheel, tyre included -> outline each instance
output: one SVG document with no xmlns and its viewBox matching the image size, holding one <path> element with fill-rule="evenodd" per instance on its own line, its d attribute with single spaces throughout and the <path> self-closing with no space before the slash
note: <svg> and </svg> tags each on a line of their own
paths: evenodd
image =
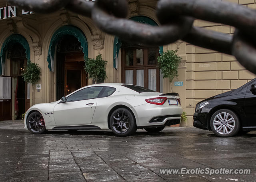
<svg viewBox="0 0 256 182">
<path fill-rule="evenodd" d="M 38 111 L 32 112 L 27 118 L 27 127 L 31 133 L 42 134 L 46 132 L 44 117 Z"/>
</svg>

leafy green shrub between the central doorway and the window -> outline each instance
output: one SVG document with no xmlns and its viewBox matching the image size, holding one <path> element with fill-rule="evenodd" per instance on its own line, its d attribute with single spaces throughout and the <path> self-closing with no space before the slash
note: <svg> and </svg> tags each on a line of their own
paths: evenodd
<svg viewBox="0 0 256 182">
<path fill-rule="evenodd" d="M 105 66 L 107 61 L 102 60 L 101 54 L 94 58 L 86 58 L 84 60 L 84 69 L 88 73 L 87 78 L 92 78 L 92 80 L 97 83 L 99 80 L 105 80 L 106 78 L 106 71 Z"/>
</svg>

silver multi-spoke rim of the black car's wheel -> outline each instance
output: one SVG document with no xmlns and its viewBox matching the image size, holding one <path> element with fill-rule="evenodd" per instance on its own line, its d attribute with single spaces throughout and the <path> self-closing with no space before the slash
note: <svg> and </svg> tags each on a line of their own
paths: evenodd
<svg viewBox="0 0 256 182">
<path fill-rule="evenodd" d="M 230 134 L 235 128 L 233 116 L 227 112 L 218 113 L 213 120 L 213 126 L 219 134 Z"/>
</svg>

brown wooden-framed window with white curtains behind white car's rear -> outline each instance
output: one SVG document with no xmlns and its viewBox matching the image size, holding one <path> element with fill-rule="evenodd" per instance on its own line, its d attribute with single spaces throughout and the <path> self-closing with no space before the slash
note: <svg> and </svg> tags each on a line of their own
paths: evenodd
<svg viewBox="0 0 256 182">
<path fill-rule="evenodd" d="M 122 82 L 163 92 L 163 78 L 157 66 L 159 47 L 122 42 Z"/>
</svg>

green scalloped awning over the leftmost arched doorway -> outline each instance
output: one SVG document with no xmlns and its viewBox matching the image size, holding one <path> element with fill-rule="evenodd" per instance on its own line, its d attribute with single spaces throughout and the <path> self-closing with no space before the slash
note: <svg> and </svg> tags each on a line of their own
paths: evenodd
<svg viewBox="0 0 256 182">
<path fill-rule="evenodd" d="M 5 55 L 6 55 L 6 50 L 8 50 L 8 48 L 10 48 L 10 46 L 12 46 L 12 44 L 14 43 L 20 43 L 24 49 L 26 50 L 26 58 L 28 60 L 28 62 L 30 62 L 30 48 L 28 45 L 28 41 L 26 40 L 26 38 L 24 38 L 24 36 L 20 35 L 20 34 L 13 34 L 10 35 L 8 38 L 6 38 L 6 40 L 4 41 L 4 44 L 1 48 L 1 52 L 0 52 L 0 75 L 4 73 L 4 62 L 5 62 Z"/>
</svg>

